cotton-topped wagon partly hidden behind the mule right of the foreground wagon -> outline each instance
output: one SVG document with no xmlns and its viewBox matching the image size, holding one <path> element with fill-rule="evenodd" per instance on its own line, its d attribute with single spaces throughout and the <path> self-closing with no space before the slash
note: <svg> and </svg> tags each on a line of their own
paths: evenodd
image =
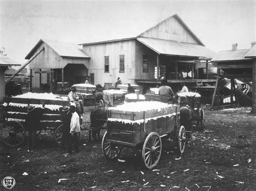
<svg viewBox="0 0 256 191">
<path fill-rule="evenodd" d="M 201 95 L 196 92 L 183 92 L 178 93 L 178 101 L 180 106 L 185 106 L 188 103 L 188 99 L 193 97 L 194 108 L 193 108 L 193 123 L 196 123 L 200 130 L 204 129 L 204 110 L 201 108 Z"/>
</svg>

